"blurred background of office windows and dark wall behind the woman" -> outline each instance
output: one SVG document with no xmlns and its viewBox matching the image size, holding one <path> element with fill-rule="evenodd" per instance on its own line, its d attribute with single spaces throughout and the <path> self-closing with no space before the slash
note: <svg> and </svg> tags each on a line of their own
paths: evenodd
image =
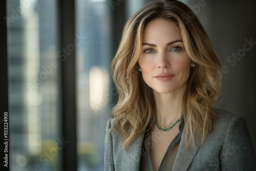
<svg viewBox="0 0 256 171">
<path fill-rule="evenodd" d="M 6 0 L 10 170 L 103 170 L 110 74 L 146 0 Z M 256 1 L 187 0 L 221 58 L 220 105 L 256 149 Z M 2 47 L 3 48 L 3 47 Z"/>
</svg>

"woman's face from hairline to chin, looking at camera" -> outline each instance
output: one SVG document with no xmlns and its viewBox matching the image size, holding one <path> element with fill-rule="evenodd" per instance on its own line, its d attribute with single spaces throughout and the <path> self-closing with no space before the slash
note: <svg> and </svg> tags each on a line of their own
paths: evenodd
<svg viewBox="0 0 256 171">
<path fill-rule="evenodd" d="M 178 27 L 166 19 L 154 19 L 144 29 L 139 58 L 142 77 L 158 93 L 186 89 L 191 59 Z"/>
</svg>

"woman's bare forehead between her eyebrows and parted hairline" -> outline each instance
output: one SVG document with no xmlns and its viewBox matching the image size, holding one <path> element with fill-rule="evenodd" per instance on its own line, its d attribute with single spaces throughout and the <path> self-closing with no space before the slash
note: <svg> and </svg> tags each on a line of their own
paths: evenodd
<svg viewBox="0 0 256 171">
<path fill-rule="evenodd" d="M 167 19 L 154 19 L 149 22 L 143 31 L 142 41 L 173 41 L 182 40 L 178 26 Z M 153 43 L 153 42 L 152 42 Z"/>
</svg>

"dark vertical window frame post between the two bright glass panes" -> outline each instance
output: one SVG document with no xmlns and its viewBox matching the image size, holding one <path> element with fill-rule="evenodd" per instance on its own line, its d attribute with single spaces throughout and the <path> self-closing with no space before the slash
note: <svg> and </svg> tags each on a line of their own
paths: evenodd
<svg viewBox="0 0 256 171">
<path fill-rule="evenodd" d="M 75 0 L 58 0 L 59 50 L 75 39 Z M 60 170 L 77 170 L 75 51 L 60 63 L 61 135 L 69 143 L 63 148 Z"/>
</svg>

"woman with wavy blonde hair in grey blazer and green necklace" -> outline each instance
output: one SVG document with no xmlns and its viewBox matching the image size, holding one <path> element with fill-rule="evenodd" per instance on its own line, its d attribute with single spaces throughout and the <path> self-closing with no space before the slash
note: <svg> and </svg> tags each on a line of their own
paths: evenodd
<svg viewBox="0 0 256 171">
<path fill-rule="evenodd" d="M 105 170 L 256 170 L 246 121 L 214 108 L 221 64 L 195 14 L 154 1 L 126 23 Z"/>
</svg>

